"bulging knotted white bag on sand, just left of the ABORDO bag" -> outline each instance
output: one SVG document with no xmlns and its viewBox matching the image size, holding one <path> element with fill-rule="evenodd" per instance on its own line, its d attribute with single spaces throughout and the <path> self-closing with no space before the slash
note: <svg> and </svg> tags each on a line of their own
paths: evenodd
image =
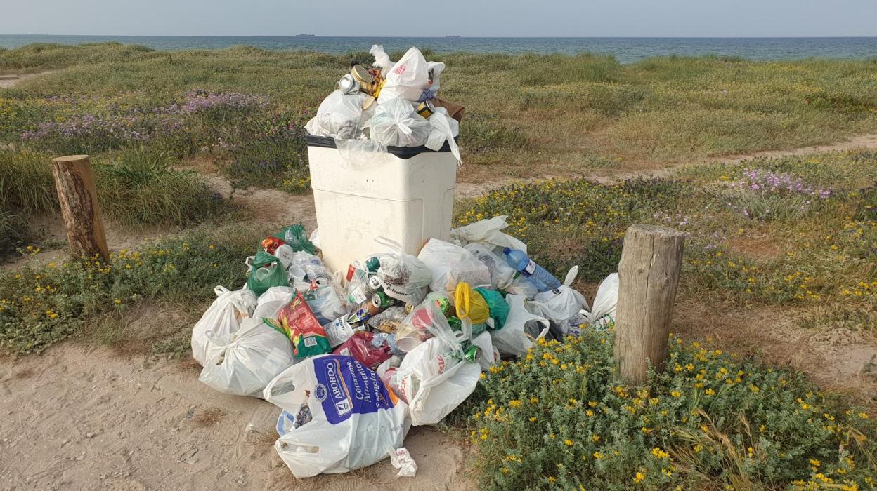
<svg viewBox="0 0 877 491">
<path fill-rule="evenodd" d="M 260 396 L 268 382 L 293 363 L 292 343 L 261 319 L 244 319 L 237 333 L 207 333 L 219 353 L 210 358 L 198 380 L 238 396 Z"/>
</svg>

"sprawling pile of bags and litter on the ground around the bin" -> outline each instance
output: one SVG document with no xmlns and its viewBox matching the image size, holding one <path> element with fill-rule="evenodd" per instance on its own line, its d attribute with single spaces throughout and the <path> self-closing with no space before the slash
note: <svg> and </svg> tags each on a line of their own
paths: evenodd
<svg viewBox="0 0 877 491">
<path fill-rule="evenodd" d="M 577 266 L 561 284 L 507 226 L 497 216 L 456 228 L 417 256 L 380 239 L 343 272 L 324 266 L 316 230 L 283 228 L 246 258 L 246 285 L 217 287 L 193 328 L 200 380 L 279 408 L 275 449 L 296 477 L 386 458 L 413 475 L 412 425 L 439 423 L 482 371 L 535 340 L 614 319 L 617 273 L 589 307 L 571 286 Z"/>
</svg>

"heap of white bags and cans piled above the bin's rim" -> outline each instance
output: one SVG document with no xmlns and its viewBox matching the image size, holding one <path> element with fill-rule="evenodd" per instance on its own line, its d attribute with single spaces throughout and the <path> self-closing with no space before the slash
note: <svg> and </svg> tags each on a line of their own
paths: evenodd
<svg viewBox="0 0 877 491">
<path fill-rule="evenodd" d="M 460 135 L 465 109 L 437 96 L 445 64 L 426 61 L 416 47 L 395 62 L 383 46 L 374 45 L 369 53 L 372 67 L 354 62 L 305 126 L 308 133 L 335 138 L 346 151 L 387 151 L 390 146 L 439 151 L 448 145 L 460 162 L 454 138 Z"/>
</svg>

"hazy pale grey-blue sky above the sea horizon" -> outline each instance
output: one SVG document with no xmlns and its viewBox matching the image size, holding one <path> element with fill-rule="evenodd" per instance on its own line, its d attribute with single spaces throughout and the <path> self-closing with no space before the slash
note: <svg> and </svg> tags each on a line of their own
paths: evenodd
<svg viewBox="0 0 877 491">
<path fill-rule="evenodd" d="M 0 0 L 0 34 L 877 36 L 877 0 Z"/>
</svg>

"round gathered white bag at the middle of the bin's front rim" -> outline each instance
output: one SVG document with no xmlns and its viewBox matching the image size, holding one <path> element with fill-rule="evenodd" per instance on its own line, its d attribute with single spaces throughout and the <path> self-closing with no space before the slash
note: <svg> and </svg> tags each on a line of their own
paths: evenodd
<svg viewBox="0 0 877 491">
<path fill-rule="evenodd" d="M 402 98 L 378 104 L 371 125 L 371 139 L 384 146 L 396 147 L 426 144 L 432 130 L 430 122 L 418 115 L 414 106 Z"/>
</svg>

